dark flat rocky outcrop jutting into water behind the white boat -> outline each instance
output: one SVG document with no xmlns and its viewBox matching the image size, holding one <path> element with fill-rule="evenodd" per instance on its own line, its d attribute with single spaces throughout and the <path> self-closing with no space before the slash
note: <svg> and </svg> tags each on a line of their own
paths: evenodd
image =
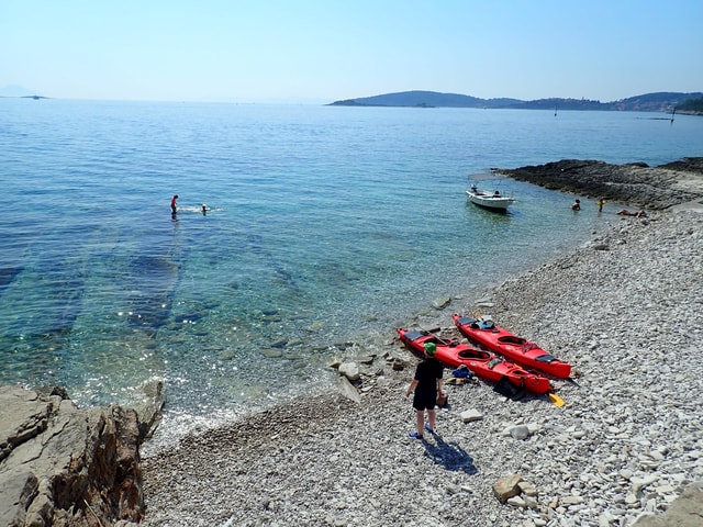
<svg viewBox="0 0 703 527">
<path fill-rule="evenodd" d="M 628 202 L 651 210 L 668 209 L 703 197 L 703 158 L 699 157 L 687 157 L 659 167 L 644 162 L 611 165 L 562 159 L 495 171 L 547 189 Z"/>
</svg>

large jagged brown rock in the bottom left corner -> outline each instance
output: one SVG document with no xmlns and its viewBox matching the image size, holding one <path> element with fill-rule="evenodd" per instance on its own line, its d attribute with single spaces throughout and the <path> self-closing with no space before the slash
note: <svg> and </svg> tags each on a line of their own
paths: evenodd
<svg viewBox="0 0 703 527">
<path fill-rule="evenodd" d="M 0 386 L 0 525 L 142 519 L 138 449 L 160 404 L 140 416 L 120 406 L 78 408 L 63 389 Z"/>
</svg>

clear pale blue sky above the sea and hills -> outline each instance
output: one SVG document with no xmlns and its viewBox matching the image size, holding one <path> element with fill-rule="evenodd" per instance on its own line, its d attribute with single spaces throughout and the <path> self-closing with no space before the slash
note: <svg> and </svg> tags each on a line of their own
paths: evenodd
<svg viewBox="0 0 703 527">
<path fill-rule="evenodd" d="M 701 0 L 0 0 L 0 93 L 610 102 L 703 91 L 701 21 Z"/>
</svg>

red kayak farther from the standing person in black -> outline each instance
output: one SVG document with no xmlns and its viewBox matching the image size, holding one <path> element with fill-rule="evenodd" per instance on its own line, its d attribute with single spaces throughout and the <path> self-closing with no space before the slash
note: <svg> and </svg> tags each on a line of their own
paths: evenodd
<svg viewBox="0 0 703 527">
<path fill-rule="evenodd" d="M 493 321 L 457 314 L 451 315 L 451 318 L 464 336 L 486 346 L 491 351 L 559 379 L 568 379 L 571 374 L 571 365 L 553 357 L 535 343 L 496 326 Z"/>
</svg>

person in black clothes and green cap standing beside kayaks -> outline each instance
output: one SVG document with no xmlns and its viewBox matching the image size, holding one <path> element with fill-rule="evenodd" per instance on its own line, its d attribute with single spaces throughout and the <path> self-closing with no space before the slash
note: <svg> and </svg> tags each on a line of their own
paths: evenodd
<svg viewBox="0 0 703 527">
<path fill-rule="evenodd" d="M 413 439 L 423 439 L 423 430 L 429 434 L 435 433 L 435 405 L 437 404 L 437 395 L 442 396 L 442 375 L 444 369 L 442 363 L 435 359 L 437 347 L 434 343 L 425 344 L 426 358 L 417 365 L 415 369 L 415 378 L 408 386 L 405 396 L 409 397 L 414 390 L 413 408 L 417 416 L 416 431 L 408 435 Z M 428 424 L 425 424 L 425 410 L 427 411 Z"/>
</svg>

